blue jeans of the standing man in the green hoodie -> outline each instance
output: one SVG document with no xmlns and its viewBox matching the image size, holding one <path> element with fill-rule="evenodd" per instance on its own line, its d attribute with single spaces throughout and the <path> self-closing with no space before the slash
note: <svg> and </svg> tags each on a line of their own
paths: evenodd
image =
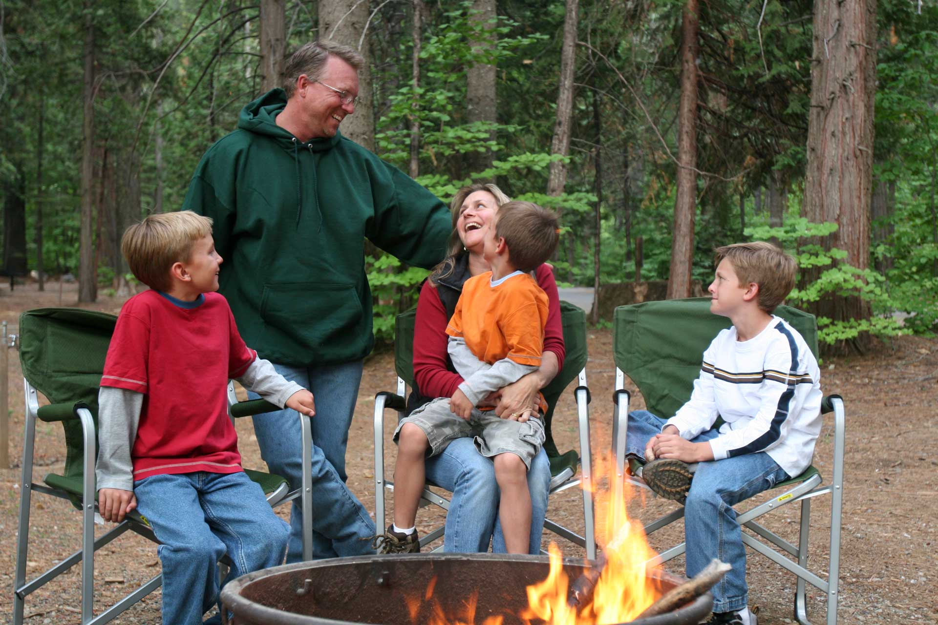
<svg viewBox="0 0 938 625">
<path fill-rule="evenodd" d="M 312 417 L 312 558 L 336 558 L 373 554 L 374 522 L 365 506 L 345 485 L 345 446 L 355 412 L 362 363 L 322 367 L 274 365 L 286 379 L 310 390 L 316 401 Z M 251 399 L 257 394 L 249 393 Z M 299 414 L 282 409 L 253 417 L 261 457 L 274 473 L 302 484 L 303 438 Z M 290 513 L 287 562 L 303 558 L 303 511 L 294 499 Z"/>
</svg>

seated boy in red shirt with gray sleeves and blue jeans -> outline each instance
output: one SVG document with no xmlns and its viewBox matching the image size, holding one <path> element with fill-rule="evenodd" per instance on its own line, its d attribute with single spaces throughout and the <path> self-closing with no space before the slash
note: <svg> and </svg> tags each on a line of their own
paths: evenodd
<svg viewBox="0 0 938 625">
<path fill-rule="evenodd" d="M 184 211 L 124 233 L 130 271 L 150 290 L 121 308 L 98 394 L 98 507 L 114 522 L 137 508 L 153 528 L 164 625 L 202 623 L 218 600 L 225 553 L 234 579 L 280 564 L 286 550 L 289 526 L 241 469 L 228 379 L 315 414 L 312 394 L 238 335 L 214 292 L 221 257 L 211 232 L 211 219 Z"/>
</svg>

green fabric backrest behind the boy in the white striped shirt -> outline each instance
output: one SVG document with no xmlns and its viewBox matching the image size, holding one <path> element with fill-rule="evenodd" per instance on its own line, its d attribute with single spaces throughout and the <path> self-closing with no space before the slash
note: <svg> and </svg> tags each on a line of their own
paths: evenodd
<svg viewBox="0 0 938 625">
<path fill-rule="evenodd" d="M 817 355 L 814 315 L 785 305 L 774 314 L 788 321 Z M 648 410 L 671 417 L 690 398 L 703 351 L 730 325 L 728 318 L 710 312 L 709 297 L 618 306 L 613 313 L 615 365 L 639 387 Z"/>
</svg>

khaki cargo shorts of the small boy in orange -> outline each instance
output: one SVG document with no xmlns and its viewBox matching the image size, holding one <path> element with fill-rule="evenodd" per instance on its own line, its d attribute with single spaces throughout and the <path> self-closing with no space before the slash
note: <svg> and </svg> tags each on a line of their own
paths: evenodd
<svg viewBox="0 0 938 625">
<path fill-rule="evenodd" d="M 525 423 L 502 419 L 494 410 L 473 409 L 469 421 L 449 411 L 449 397 L 439 397 L 411 412 L 401 419 L 394 431 L 394 442 L 398 441 L 404 424 L 415 424 L 430 441 L 430 455 L 446 449 L 450 440 L 473 437 L 479 454 L 492 457 L 498 454 L 515 454 L 531 469 L 531 459 L 544 444 L 544 423 L 533 417 Z"/>
</svg>

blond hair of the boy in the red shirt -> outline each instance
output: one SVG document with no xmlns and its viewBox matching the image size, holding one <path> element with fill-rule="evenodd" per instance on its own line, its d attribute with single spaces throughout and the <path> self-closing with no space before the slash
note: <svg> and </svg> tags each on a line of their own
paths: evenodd
<svg viewBox="0 0 938 625">
<path fill-rule="evenodd" d="M 120 240 L 120 251 L 130 271 L 150 289 L 169 290 L 170 268 L 188 262 L 192 244 L 212 233 L 210 217 L 192 211 L 161 213 L 130 226 Z"/>
</svg>

